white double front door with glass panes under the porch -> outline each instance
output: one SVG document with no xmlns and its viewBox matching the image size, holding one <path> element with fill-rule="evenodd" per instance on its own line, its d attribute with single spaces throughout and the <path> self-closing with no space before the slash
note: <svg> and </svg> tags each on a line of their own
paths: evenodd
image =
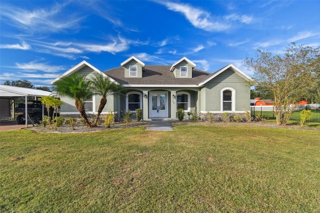
<svg viewBox="0 0 320 213">
<path fill-rule="evenodd" d="M 150 117 L 168 117 L 168 101 L 166 91 L 150 92 Z"/>
</svg>

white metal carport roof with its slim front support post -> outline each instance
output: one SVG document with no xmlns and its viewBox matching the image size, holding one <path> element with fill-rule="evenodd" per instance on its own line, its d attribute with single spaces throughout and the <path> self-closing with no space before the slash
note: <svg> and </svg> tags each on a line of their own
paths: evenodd
<svg viewBox="0 0 320 213">
<path fill-rule="evenodd" d="M 25 97 L 25 114 L 27 114 L 27 97 L 28 96 L 53 96 L 55 93 L 43 91 L 40 89 L 25 88 L 18 86 L 0 85 L 0 97 Z M 25 127 L 27 127 L 27 119 L 25 119 Z"/>
</svg>

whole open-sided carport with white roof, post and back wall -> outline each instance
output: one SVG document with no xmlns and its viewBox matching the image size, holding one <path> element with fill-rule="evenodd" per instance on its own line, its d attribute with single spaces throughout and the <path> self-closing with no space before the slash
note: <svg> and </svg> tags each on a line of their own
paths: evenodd
<svg viewBox="0 0 320 213">
<path fill-rule="evenodd" d="M 8 86 L 8 85 L 0 85 L 0 118 L 2 117 L 11 117 L 10 112 L 10 104 L 11 99 L 14 97 L 24 97 L 25 102 L 25 127 L 27 127 L 27 100 L 28 97 L 40 97 L 40 96 L 52 96 L 54 95 L 53 92 L 43 91 L 40 89 L 32 89 L 32 88 L 25 88 L 25 87 L 17 87 L 17 86 Z M 43 107 L 43 106 L 42 106 Z M 14 113 L 14 107 L 13 107 Z"/>
</svg>

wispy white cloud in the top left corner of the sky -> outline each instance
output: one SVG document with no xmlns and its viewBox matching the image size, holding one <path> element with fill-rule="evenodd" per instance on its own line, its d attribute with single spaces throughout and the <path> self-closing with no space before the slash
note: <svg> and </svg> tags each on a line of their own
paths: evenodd
<svg viewBox="0 0 320 213">
<path fill-rule="evenodd" d="M 59 32 L 79 28 L 81 17 L 61 13 L 63 5 L 55 3 L 52 7 L 27 10 L 17 6 L 1 5 L 1 21 L 21 30 L 40 32 Z M 9 19 L 9 20 L 8 20 Z"/>
</svg>

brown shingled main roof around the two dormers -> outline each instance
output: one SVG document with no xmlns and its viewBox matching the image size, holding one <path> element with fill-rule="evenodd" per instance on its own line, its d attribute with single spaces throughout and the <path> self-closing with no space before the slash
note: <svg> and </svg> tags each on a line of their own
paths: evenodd
<svg viewBox="0 0 320 213">
<path fill-rule="evenodd" d="M 213 73 L 192 69 L 192 78 L 176 78 L 170 65 L 145 65 L 142 77 L 124 77 L 124 68 L 119 66 L 104 71 L 103 73 L 116 80 L 120 84 L 153 84 L 153 85 L 198 85 Z"/>
</svg>

